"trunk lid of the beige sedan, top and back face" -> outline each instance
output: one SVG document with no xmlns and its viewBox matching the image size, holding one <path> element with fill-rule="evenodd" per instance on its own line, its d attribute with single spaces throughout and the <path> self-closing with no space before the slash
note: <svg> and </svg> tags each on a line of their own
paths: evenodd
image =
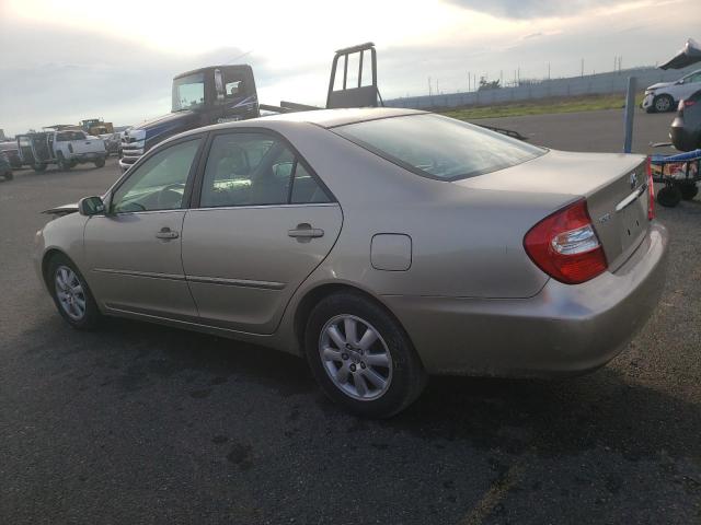
<svg viewBox="0 0 701 525">
<path fill-rule="evenodd" d="M 562 196 L 561 206 L 584 197 L 611 271 L 628 259 L 650 228 L 650 188 L 642 155 L 550 151 L 457 184 L 475 189 L 558 194 Z"/>
</svg>

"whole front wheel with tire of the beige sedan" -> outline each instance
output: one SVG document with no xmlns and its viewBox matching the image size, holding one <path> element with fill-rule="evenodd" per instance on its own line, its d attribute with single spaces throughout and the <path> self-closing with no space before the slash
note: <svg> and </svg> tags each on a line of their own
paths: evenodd
<svg viewBox="0 0 701 525">
<path fill-rule="evenodd" d="M 102 314 L 76 265 L 64 255 L 54 255 L 46 272 L 49 293 L 61 317 L 78 330 L 96 328 Z"/>
</svg>

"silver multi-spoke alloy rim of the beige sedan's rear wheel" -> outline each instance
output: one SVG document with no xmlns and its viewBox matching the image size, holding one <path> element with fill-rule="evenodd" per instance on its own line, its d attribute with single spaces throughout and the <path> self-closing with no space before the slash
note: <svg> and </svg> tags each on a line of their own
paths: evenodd
<svg viewBox="0 0 701 525">
<path fill-rule="evenodd" d="M 392 381 L 392 355 L 380 332 L 354 315 L 337 315 L 322 328 L 319 353 L 334 386 L 361 401 L 381 397 Z"/>
</svg>

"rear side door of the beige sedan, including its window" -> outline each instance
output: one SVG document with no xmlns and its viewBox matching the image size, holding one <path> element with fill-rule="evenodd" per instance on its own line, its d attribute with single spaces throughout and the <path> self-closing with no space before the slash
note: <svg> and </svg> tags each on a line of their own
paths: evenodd
<svg viewBox="0 0 701 525">
<path fill-rule="evenodd" d="M 199 208 L 183 224 L 183 266 L 199 316 L 272 334 L 333 247 L 341 207 L 300 155 L 266 131 L 214 136 L 200 178 Z"/>
</svg>

